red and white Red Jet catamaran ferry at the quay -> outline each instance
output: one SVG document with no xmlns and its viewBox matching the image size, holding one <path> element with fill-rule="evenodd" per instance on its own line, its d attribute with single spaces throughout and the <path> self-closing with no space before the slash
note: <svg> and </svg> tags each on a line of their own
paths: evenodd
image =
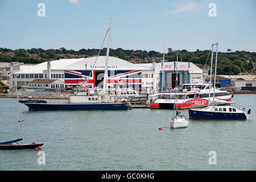
<svg viewBox="0 0 256 182">
<path fill-rule="evenodd" d="M 183 84 L 182 92 L 177 93 L 177 101 L 175 107 L 178 109 L 186 109 L 191 107 L 208 106 L 210 84 Z M 211 88 L 210 105 L 213 101 L 213 88 Z M 218 103 L 220 101 L 220 103 Z M 214 102 L 217 105 L 223 104 L 223 101 L 231 101 L 231 94 L 229 92 L 215 89 Z M 151 103 L 151 109 L 173 109 L 174 93 L 159 93 L 159 98 Z"/>
</svg>

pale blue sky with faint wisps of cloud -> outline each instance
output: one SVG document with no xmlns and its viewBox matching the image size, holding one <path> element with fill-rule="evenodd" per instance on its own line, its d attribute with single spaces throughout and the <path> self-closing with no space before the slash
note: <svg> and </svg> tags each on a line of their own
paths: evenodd
<svg viewBox="0 0 256 182">
<path fill-rule="evenodd" d="M 256 52 L 255 0 L 0 0 L 0 47 L 100 48 L 111 17 L 113 49 Z"/>
</svg>

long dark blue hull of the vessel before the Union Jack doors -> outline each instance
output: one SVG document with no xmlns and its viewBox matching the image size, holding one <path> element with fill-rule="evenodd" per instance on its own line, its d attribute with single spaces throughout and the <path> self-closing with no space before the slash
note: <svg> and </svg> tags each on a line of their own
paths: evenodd
<svg viewBox="0 0 256 182">
<path fill-rule="evenodd" d="M 127 110 L 129 106 L 123 103 L 102 104 L 44 104 L 23 103 L 32 110 Z"/>
</svg>

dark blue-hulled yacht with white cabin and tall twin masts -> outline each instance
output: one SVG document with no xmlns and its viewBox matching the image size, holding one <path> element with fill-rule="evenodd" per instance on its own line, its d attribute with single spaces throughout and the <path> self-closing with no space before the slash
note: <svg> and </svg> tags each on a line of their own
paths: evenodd
<svg viewBox="0 0 256 182">
<path fill-rule="evenodd" d="M 234 102 L 223 101 L 223 104 L 226 106 L 216 106 L 215 97 L 215 84 L 216 84 L 216 74 L 217 74 L 217 57 L 218 57 L 218 43 L 212 44 L 212 59 L 211 59 L 211 69 L 210 69 L 210 83 L 212 82 L 212 65 L 213 65 L 213 47 L 216 46 L 216 61 L 215 61 L 215 73 L 214 73 L 214 86 L 213 86 L 213 101 L 212 106 L 208 102 L 208 107 L 204 109 L 189 109 L 189 118 L 190 119 L 230 119 L 230 120 L 246 120 L 249 118 L 251 110 L 246 114 L 245 108 L 241 109 L 240 107 L 234 107 L 232 104 Z M 210 94 L 209 94 L 210 97 Z M 210 98 L 209 98 L 210 100 Z"/>
</svg>

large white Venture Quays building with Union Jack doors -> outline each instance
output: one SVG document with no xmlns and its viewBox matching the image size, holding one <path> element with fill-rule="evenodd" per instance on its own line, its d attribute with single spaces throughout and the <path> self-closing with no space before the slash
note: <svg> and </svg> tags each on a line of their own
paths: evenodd
<svg viewBox="0 0 256 182">
<path fill-rule="evenodd" d="M 105 59 L 106 56 L 99 56 L 48 61 L 37 65 L 15 64 L 10 69 L 10 89 L 15 88 L 14 75 L 17 75 L 17 84 L 23 89 L 31 89 L 30 84 L 35 79 L 57 79 L 64 83 L 65 88 L 72 88 L 85 82 L 88 87 L 101 87 Z M 202 80 L 202 69 L 193 63 L 133 64 L 109 56 L 107 86 L 113 88 L 121 82 L 139 93 L 156 93 L 162 88 L 174 87 L 176 67 L 179 84 Z"/>
</svg>

